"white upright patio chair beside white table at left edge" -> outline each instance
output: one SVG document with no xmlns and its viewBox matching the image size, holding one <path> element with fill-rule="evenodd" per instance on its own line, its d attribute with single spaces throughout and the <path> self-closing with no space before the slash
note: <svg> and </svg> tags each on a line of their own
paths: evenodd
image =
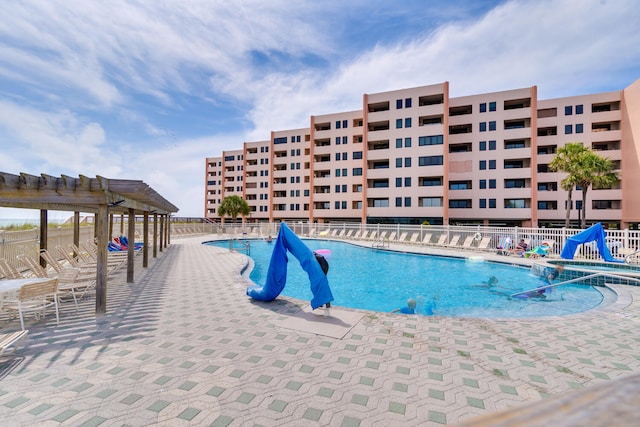
<svg viewBox="0 0 640 427">
<path fill-rule="evenodd" d="M 24 331 L 24 315 L 34 313 L 36 319 L 46 316 L 48 307 L 55 307 L 56 324 L 60 324 L 60 314 L 58 310 L 58 279 L 53 278 L 41 282 L 27 283 L 20 287 L 18 299 L 5 303 L 4 309 L 17 311 L 20 316 L 20 326 Z"/>
</svg>

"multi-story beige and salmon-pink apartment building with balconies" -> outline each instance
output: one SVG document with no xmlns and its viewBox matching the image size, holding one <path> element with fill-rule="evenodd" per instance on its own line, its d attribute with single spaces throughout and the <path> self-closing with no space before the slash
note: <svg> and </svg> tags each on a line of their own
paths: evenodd
<svg viewBox="0 0 640 427">
<path fill-rule="evenodd" d="M 637 228 L 640 80 L 549 100 L 536 86 L 449 97 L 448 82 L 365 94 L 362 110 L 311 116 L 308 128 L 208 158 L 205 216 L 239 194 L 252 220 L 563 225 L 564 174 L 548 164 L 569 142 L 621 177 L 586 201 L 574 191 L 574 223 L 586 203 L 589 222 Z"/>
</svg>

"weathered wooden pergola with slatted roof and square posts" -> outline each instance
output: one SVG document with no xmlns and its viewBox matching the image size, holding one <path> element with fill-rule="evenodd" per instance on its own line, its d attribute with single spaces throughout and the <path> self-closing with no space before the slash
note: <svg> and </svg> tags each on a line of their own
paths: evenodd
<svg viewBox="0 0 640 427">
<path fill-rule="evenodd" d="M 74 242 L 80 236 L 79 213 L 95 214 L 95 237 L 98 244 L 96 266 L 96 313 L 107 310 L 107 245 L 111 239 L 113 214 L 128 215 L 127 282 L 134 278 L 135 217 L 144 216 L 142 248 L 143 267 L 148 265 L 149 215 L 153 215 L 153 256 L 156 257 L 158 222 L 160 250 L 169 242 L 169 217 L 178 208 L 142 181 L 89 178 L 80 175 L 55 177 L 0 172 L 0 207 L 40 210 L 40 249 L 47 245 L 47 212 L 74 212 Z M 110 227 L 111 226 L 111 227 Z"/>
</svg>

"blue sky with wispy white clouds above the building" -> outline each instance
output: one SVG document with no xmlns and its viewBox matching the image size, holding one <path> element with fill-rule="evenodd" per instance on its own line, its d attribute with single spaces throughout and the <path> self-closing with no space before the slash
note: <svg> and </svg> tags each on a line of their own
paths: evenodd
<svg viewBox="0 0 640 427">
<path fill-rule="evenodd" d="M 638 28 L 634 0 L 2 2 L 0 171 L 139 179 L 202 216 L 206 157 L 363 93 L 620 90 Z"/>
</svg>

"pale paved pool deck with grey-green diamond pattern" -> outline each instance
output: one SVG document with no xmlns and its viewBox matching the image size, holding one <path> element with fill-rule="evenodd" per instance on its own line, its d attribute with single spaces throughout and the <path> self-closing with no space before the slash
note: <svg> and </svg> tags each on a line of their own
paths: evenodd
<svg viewBox="0 0 640 427">
<path fill-rule="evenodd" d="M 96 317 L 87 298 L 78 314 L 66 304 L 59 326 L 30 318 L 17 355 L 0 361 L 3 425 L 493 425 L 495 411 L 526 414 L 545 398 L 616 389 L 612 380 L 639 395 L 640 287 L 622 286 L 607 307 L 535 320 L 337 307 L 344 335 L 322 334 L 313 318 L 312 333 L 295 320 L 307 302 L 250 300 L 246 258 L 201 245 L 210 238 L 174 239 L 144 271 L 137 257 L 135 283 L 124 269 L 111 276 L 107 314 Z M 0 319 L 0 333 L 19 328 Z M 616 402 L 583 411 L 611 425 L 640 413 L 637 398 Z M 475 418 L 487 414 L 495 423 Z"/>
</svg>

